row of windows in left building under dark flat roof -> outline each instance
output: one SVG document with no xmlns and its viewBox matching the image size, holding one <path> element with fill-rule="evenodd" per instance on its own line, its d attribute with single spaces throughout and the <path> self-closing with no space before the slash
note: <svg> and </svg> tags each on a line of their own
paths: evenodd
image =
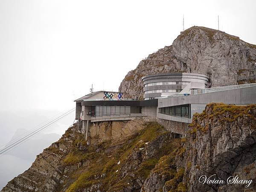
<svg viewBox="0 0 256 192">
<path fill-rule="evenodd" d="M 96 106 L 96 116 L 131 114 L 130 106 Z"/>
</svg>

